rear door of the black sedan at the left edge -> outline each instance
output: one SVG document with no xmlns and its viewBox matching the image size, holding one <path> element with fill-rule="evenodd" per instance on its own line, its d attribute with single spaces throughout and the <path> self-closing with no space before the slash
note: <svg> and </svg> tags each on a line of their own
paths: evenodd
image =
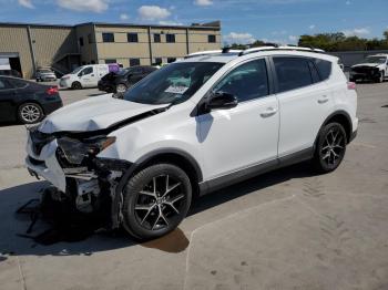
<svg viewBox="0 0 388 290">
<path fill-rule="evenodd" d="M 17 90 L 7 77 L 0 77 L 0 121 L 11 121 L 16 118 Z"/>
</svg>

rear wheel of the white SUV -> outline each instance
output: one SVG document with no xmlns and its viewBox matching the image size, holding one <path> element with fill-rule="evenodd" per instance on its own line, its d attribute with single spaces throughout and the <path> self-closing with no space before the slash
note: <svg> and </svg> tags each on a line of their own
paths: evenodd
<svg viewBox="0 0 388 290">
<path fill-rule="evenodd" d="M 339 123 L 325 125 L 319 133 L 313 164 L 318 173 L 330 173 L 340 165 L 346 153 L 347 136 Z"/>
</svg>

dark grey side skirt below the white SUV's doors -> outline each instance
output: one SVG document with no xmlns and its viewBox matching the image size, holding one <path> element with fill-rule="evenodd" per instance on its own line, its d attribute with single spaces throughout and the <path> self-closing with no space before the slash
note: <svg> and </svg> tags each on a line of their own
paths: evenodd
<svg viewBox="0 0 388 290">
<path fill-rule="evenodd" d="M 302 163 L 305 160 L 309 160 L 314 157 L 314 147 L 303 149 L 297 153 L 293 153 L 290 155 L 279 157 L 274 160 L 269 160 L 266 163 L 261 163 L 257 165 L 253 165 L 251 167 L 233 172 L 227 175 L 219 176 L 214 179 L 210 179 L 203 183 L 200 183 L 200 196 L 210 194 L 223 187 L 237 184 L 244 182 L 246 179 L 253 178 L 257 175 L 262 175 L 282 167 L 286 167 L 293 164 Z"/>
</svg>

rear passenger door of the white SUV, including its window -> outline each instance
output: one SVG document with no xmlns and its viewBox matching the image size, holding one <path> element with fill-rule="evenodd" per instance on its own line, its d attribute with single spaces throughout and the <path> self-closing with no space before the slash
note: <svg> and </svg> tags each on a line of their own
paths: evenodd
<svg viewBox="0 0 388 290">
<path fill-rule="evenodd" d="M 333 99 L 314 59 L 274 56 L 273 62 L 280 107 L 282 158 L 313 147 L 333 107 Z"/>
</svg>

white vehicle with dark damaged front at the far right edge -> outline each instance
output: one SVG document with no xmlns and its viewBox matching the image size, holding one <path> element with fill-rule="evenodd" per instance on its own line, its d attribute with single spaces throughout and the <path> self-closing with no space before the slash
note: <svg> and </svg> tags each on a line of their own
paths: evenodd
<svg viewBox="0 0 388 290">
<path fill-rule="evenodd" d="M 388 77 L 388 54 L 375 54 L 350 69 L 350 82 L 374 81 L 382 83 Z"/>
</svg>

